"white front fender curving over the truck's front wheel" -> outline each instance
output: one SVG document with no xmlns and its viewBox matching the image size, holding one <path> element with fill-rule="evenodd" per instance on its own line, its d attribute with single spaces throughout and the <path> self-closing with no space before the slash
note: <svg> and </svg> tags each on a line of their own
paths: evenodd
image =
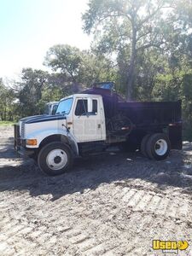
<svg viewBox="0 0 192 256">
<path fill-rule="evenodd" d="M 77 155 L 79 155 L 79 147 L 78 147 L 78 143 L 76 142 L 75 137 L 73 136 L 72 133 L 70 133 L 70 131 L 64 130 L 64 129 L 54 129 L 54 130 L 48 130 L 48 131 L 36 131 L 36 132 L 32 132 L 30 134 L 28 134 L 26 136 L 26 139 L 37 139 L 38 144 L 36 146 L 31 146 L 31 145 L 26 145 L 26 148 L 39 148 L 40 144 L 48 137 L 51 136 L 57 136 L 60 135 L 61 136 L 61 142 L 65 141 L 65 138 L 67 139 L 67 142 L 69 143 L 69 145 L 71 145 L 71 147 L 73 148 L 73 152 Z"/>
</svg>

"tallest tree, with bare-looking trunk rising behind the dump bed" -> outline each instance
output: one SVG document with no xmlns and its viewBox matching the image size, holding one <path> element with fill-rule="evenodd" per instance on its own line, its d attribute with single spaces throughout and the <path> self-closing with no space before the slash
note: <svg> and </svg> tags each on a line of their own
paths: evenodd
<svg viewBox="0 0 192 256">
<path fill-rule="evenodd" d="M 90 0 L 84 13 L 84 32 L 94 32 L 102 51 L 122 55 L 126 52 L 126 98 L 131 100 L 139 51 L 160 48 L 164 38 L 160 29 L 161 9 L 166 0 Z"/>
</svg>

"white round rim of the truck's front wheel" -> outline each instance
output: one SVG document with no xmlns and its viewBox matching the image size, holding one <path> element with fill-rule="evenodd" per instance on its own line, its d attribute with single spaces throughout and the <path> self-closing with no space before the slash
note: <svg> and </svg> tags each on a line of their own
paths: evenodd
<svg viewBox="0 0 192 256">
<path fill-rule="evenodd" d="M 47 166 L 51 170 L 60 170 L 67 165 L 67 154 L 64 150 L 58 148 L 51 150 L 46 157 Z"/>
</svg>

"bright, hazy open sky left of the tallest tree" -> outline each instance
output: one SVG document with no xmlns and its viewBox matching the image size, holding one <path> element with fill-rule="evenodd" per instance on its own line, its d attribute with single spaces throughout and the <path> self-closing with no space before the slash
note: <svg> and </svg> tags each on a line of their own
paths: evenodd
<svg viewBox="0 0 192 256">
<path fill-rule="evenodd" d="M 0 78 L 16 79 L 23 67 L 45 69 L 55 44 L 89 49 L 81 15 L 88 0 L 0 0 Z"/>
</svg>

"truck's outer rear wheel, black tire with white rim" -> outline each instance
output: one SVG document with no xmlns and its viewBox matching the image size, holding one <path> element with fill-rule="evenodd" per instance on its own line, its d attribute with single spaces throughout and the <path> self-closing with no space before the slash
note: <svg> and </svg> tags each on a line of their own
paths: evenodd
<svg viewBox="0 0 192 256">
<path fill-rule="evenodd" d="M 171 143 L 164 133 L 154 133 L 148 138 L 146 152 L 152 160 L 165 160 L 170 153 Z"/>
</svg>

